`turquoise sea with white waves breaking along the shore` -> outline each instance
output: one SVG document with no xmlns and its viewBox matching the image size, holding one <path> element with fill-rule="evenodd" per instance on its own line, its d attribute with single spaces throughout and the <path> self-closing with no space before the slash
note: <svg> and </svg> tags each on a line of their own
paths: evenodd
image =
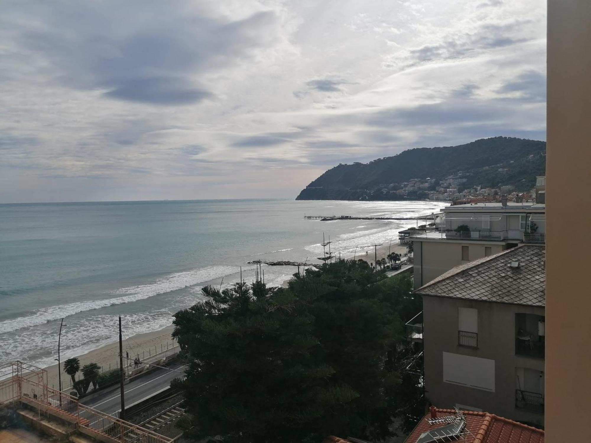
<svg viewBox="0 0 591 443">
<path fill-rule="evenodd" d="M 307 220 L 304 215 L 416 217 L 434 201 L 292 199 L 0 204 L 0 363 L 45 367 L 170 325 L 205 285 L 255 278 L 252 260 L 319 263 L 323 235 L 342 258 L 398 242 L 414 220 Z M 262 266 L 278 286 L 294 266 Z"/>
</svg>

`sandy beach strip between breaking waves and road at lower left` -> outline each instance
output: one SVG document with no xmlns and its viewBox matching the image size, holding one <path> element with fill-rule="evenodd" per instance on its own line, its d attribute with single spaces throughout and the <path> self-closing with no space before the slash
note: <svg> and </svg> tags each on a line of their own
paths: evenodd
<svg viewBox="0 0 591 443">
<path fill-rule="evenodd" d="M 161 330 L 153 331 L 144 334 L 137 334 L 129 337 L 128 340 L 123 341 L 123 352 L 129 353 L 129 356 L 134 356 L 139 354 L 139 357 L 145 353 L 145 356 L 150 354 L 154 355 L 155 351 L 160 352 L 161 347 L 163 349 L 166 348 L 167 343 L 168 346 L 173 346 L 173 338 L 171 334 L 173 333 L 174 326 L 171 324 Z M 109 370 L 109 368 L 118 367 L 119 364 L 119 341 L 114 341 L 113 343 L 109 343 L 105 346 L 87 352 L 86 354 L 82 354 L 77 356 L 80 359 L 80 367 L 84 366 L 87 363 L 98 363 L 99 366 L 103 368 L 103 370 Z M 64 359 L 63 359 L 64 360 Z M 63 367 L 63 360 L 61 362 L 61 366 Z M 125 361 L 124 361 L 125 364 Z M 58 385 L 58 373 L 57 373 L 57 363 L 51 366 L 47 366 L 45 368 L 47 370 L 47 385 L 53 386 L 57 389 Z M 78 377 L 82 377 L 82 374 L 79 373 L 76 375 L 76 379 Z M 62 371 L 61 373 L 61 387 L 64 391 L 70 389 L 72 385 L 72 379 L 70 376 Z"/>
</svg>

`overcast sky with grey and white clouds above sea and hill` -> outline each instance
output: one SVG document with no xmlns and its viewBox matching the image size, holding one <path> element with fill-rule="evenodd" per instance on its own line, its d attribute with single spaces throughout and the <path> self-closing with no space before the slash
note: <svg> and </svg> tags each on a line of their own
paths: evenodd
<svg viewBox="0 0 591 443">
<path fill-rule="evenodd" d="M 545 0 L 5 0 L 0 203 L 296 197 L 545 139 Z"/>
</svg>

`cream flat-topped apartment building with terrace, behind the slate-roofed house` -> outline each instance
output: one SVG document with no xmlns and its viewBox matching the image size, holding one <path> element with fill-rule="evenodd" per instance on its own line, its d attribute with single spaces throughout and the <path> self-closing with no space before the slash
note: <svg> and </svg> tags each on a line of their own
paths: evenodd
<svg viewBox="0 0 591 443">
<path fill-rule="evenodd" d="M 521 243 L 545 243 L 545 205 L 535 202 L 472 203 L 447 206 L 434 230 L 414 242 L 414 287 L 454 266 L 487 257 Z"/>
</svg>

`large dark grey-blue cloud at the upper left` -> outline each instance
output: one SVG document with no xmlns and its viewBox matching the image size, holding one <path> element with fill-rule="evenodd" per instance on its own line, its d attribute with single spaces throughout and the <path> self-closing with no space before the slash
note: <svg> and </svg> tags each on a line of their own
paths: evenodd
<svg viewBox="0 0 591 443">
<path fill-rule="evenodd" d="M 268 32 L 276 17 L 259 11 L 242 19 L 213 18 L 207 11 L 178 7 L 185 5 L 30 2 L 45 26 L 31 21 L 19 40 L 26 50 L 42 54 L 68 87 L 102 89 L 106 97 L 154 105 L 198 103 L 213 93 L 199 86 L 196 76 L 235 66 L 253 49 L 272 44 Z"/>
</svg>

